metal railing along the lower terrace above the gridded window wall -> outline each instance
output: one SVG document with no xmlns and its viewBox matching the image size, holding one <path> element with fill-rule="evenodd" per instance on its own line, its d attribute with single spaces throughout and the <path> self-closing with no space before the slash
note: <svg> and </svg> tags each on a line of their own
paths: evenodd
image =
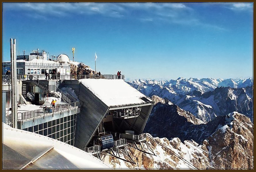
<svg viewBox="0 0 256 172">
<path fill-rule="evenodd" d="M 32 111 L 21 112 L 18 115 L 18 121 L 24 121 L 28 119 L 35 119 L 36 117 L 44 117 L 47 115 L 54 115 L 54 113 L 69 111 L 71 109 L 79 108 L 80 102 L 73 102 L 67 104 L 56 104 L 54 107 L 40 108 Z"/>
</svg>

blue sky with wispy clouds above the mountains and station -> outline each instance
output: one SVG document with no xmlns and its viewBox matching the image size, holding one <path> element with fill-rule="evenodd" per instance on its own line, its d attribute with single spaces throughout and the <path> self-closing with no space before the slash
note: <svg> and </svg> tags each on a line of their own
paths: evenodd
<svg viewBox="0 0 256 172">
<path fill-rule="evenodd" d="M 126 78 L 253 77 L 253 3 L 3 3 L 3 60 L 39 48 Z"/>
</svg>

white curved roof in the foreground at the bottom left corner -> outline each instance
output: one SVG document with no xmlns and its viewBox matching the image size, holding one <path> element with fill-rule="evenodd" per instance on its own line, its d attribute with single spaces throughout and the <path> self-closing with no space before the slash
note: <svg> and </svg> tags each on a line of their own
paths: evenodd
<svg viewBox="0 0 256 172">
<path fill-rule="evenodd" d="M 2 123 L 2 169 L 109 169 L 96 157 L 58 140 Z"/>
</svg>

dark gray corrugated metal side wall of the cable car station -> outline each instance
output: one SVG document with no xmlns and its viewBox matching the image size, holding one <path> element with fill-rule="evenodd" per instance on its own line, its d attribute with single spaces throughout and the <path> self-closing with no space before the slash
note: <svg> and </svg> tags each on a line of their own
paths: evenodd
<svg viewBox="0 0 256 172">
<path fill-rule="evenodd" d="M 98 129 L 109 107 L 83 84 L 80 84 L 78 95 L 82 107 L 80 114 L 77 115 L 75 147 L 84 149 Z"/>
</svg>

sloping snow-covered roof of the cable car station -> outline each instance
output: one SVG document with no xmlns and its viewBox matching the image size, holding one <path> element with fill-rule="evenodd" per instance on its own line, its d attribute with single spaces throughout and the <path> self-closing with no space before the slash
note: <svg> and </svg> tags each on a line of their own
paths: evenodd
<svg viewBox="0 0 256 172">
<path fill-rule="evenodd" d="M 145 104 L 152 101 L 123 80 L 81 79 L 79 81 L 109 107 Z"/>
</svg>

